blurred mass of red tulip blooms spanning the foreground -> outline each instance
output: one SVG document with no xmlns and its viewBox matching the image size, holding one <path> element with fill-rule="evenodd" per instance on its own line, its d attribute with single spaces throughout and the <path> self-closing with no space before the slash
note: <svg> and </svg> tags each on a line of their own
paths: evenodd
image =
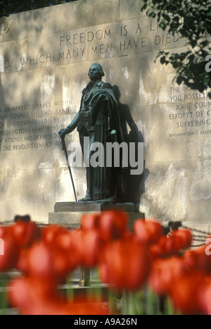
<svg viewBox="0 0 211 329">
<path fill-rule="evenodd" d="M 206 246 L 191 249 L 190 230 L 165 235 L 154 219 L 136 220 L 134 232 L 127 224 L 127 213 L 110 210 L 84 214 L 81 227 L 74 230 L 19 220 L 1 226 L 0 271 L 17 268 L 22 273 L 9 285 L 11 306 L 29 315 L 110 314 L 108 301 L 68 301 L 58 289 L 75 268 L 98 266 L 101 280 L 113 290 L 134 292 L 149 285 L 156 294 L 170 297 L 182 314 L 211 314 Z"/>
</svg>

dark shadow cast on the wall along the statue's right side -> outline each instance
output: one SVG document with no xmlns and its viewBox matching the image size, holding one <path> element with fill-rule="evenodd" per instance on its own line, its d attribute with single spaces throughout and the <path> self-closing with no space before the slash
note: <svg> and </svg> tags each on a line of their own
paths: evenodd
<svg viewBox="0 0 211 329">
<path fill-rule="evenodd" d="M 131 145 L 134 146 L 134 160 L 139 163 L 139 143 L 143 143 L 142 132 L 139 131 L 136 123 L 134 122 L 129 106 L 120 102 L 121 93 L 117 85 L 113 85 L 113 91 L 118 102 L 118 112 L 124 142 L 127 142 L 128 150 Z M 130 128 L 129 132 L 128 126 Z M 136 173 L 139 172 L 139 170 L 137 170 L 139 164 L 135 168 L 134 166 L 131 166 L 132 163 L 130 159 L 128 159 L 128 167 L 125 173 L 122 174 L 121 178 L 122 201 L 132 202 L 135 206 L 135 211 L 137 212 L 139 212 L 141 194 L 145 192 L 145 181 L 148 178 L 148 170 L 145 168 L 145 160 L 141 159 L 141 161 L 143 161 L 143 171 L 140 174 L 132 174 L 132 170 L 134 169 L 136 169 Z"/>
</svg>

